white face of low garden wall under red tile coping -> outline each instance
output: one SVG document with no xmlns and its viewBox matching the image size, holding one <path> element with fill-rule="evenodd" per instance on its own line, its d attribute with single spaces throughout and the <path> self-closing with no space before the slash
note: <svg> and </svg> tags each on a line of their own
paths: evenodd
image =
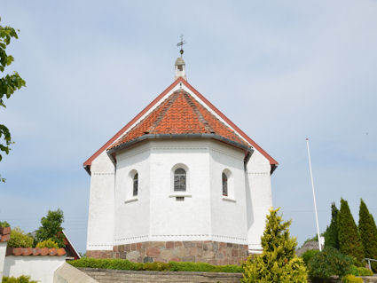
<svg viewBox="0 0 377 283">
<path fill-rule="evenodd" d="M 53 283 L 54 272 L 66 262 L 66 256 L 8 255 L 4 261 L 4 276 L 28 275 L 42 283 Z"/>
</svg>

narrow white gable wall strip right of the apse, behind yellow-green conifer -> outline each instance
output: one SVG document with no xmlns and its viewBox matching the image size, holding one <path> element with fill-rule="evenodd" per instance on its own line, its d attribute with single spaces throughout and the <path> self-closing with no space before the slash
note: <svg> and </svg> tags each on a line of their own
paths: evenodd
<svg viewBox="0 0 377 283">
<path fill-rule="evenodd" d="M 271 165 L 255 150 L 247 162 L 247 243 L 249 250 L 262 249 L 261 236 L 265 227 L 266 215 L 272 206 Z"/>
</svg>

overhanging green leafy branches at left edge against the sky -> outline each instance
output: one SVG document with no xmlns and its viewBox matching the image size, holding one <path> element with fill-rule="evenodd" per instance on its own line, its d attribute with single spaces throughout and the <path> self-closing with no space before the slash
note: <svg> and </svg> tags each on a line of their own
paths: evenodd
<svg viewBox="0 0 377 283">
<path fill-rule="evenodd" d="M 1 73 L 4 73 L 5 67 L 11 65 L 14 60 L 12 55 L 8 55 L 6 53 L 6 47 L 11 43 L 12 38 L 19 38 L 19 35 L 17 34 L 18 32 L 20 31 L 16 31 L 14 28 L 0 26 Z M 20 90 L 20 88 L 25 85 L 25 81 L 20 77 L 20 75 L 17 72 L 13 72 L 11 75 L 7 74 L 3 77 L 0 77 L 0 106 L 5 107 L 4 99 L 11 98 L 14 91 Z M 0 161 L 3 159 L 2 153 L 9 153 L 11 144 L 11 132 L 4 124 L 0 124 Z M 5 182 L 4 177 L 0 176 L 0 181 Z"/>
</svg>

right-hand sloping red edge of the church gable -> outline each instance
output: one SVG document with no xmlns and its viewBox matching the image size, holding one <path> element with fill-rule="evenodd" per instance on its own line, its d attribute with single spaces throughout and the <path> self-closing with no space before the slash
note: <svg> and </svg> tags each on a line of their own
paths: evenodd
<svg viewBox="0 0 377 283">
<path fill-rule="evenodd" d="M 276 167 L 279 164 L 278 161 L 274 160 L 269 153 L 266 153 L 261 146 L 257 145 L 253 139 L 249 138 L 246 133 L 240 130 L 239 127 L 237 127 L 231 120 L 229 120 L 223 113 L 221 113 L 221 111 L 218 110 L 216 106 L 214 106 L 205 97 L 203 97 L 198 90 L 195 90 L 190 83 L 187 83 L 185 80 L 182 80 L 182 83 L 184 83 L 185 86 L 189 88 L 189 90 L 192 90 L 192 92 L 195 93 L 195 95 L 198 96 L 203 102 L 205 102 L 213 111 L 215 111 L 216 114 L 223 118 L 225 122 L 227 122 L 242 136 L 242 138 L 245 138 L 251 145 L 256 148 L 258 152 L 262 153 L 263 156 L 270 161 L 271 165 L 274 165 Z"/>
</svg>

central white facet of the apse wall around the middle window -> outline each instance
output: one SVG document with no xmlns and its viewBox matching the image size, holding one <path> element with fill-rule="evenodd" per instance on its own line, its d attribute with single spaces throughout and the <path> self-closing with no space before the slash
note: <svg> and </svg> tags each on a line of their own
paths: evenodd
<svg viewBox="0 0 377 283">
<path fill-rule="evenodd" d="M 151 240 L 210 240 L 209 141 L 153 140 Z M 187 190 L 173 190 L 174 169 L 186 169 Z M 185 196 L 177 201 L 175 195 Z"/>
</svg>

